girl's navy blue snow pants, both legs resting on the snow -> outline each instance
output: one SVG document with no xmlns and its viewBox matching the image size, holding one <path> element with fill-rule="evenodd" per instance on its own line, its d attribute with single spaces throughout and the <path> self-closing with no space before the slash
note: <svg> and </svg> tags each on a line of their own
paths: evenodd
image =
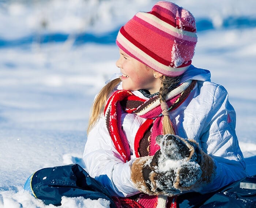
<svg viewBox="0 0 256 208">
<path fill-rule="evenodd" d="M 61 205 L 62 196 L 82 196 L 92 200 L 106 199 L 110 201 L 110 208 L 115 207 L 108 190 L 78 164 L 38 170 L 28 178 L 24 189 L 29 190 L 46 205 Z M 130 199 L 136 201 L 136 195 Z M 256 176 L 243 178 L 213 193 L 181 194 L 176 202 L 177 208 L 256 208 Z M 125 207 L 127 208 L 127 205 Z"/>
</svg>

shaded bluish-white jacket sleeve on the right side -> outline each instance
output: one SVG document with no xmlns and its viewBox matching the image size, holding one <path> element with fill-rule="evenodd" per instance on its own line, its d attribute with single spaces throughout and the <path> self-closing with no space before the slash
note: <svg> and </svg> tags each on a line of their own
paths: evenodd
<svg viewBox="0 0 256 208">
<path fill-rule="evenodd" d="M 204 186 L 201 193 L 218 190 L 247 176 L 235 132 L 236 113 L 229 103 L 226 89 L 217 85 L 212 97 L 212 109 L 199 139 L 203 151 L 214 159 L 217 169 L 214 180 Z"/>
</svg>

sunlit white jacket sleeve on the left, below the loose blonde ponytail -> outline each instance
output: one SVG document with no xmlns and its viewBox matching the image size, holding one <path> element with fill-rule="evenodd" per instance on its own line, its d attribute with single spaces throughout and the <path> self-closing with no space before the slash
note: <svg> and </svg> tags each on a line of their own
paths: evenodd
<svg viewBox="0 0 256 208">
<path fill-rule="evenodd" d="M 90 176 L 100 181 L 113 196 L 127 197 L 139 193 L 131 181 L 130 167 L 134 159 L 122 162 L 103 116 L 87 136 L 83 160 Z"/>
</svg>

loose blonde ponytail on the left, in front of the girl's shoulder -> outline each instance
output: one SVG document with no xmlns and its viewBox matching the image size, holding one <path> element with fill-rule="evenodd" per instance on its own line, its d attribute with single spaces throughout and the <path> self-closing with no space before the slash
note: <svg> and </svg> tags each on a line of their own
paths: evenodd
<svg viewBox="0 0 256 208">
<path fill-rule="evenodd" d="M 99 118 L 99 115 L 103 112 L 106 101 L 107 101 L 110 93 L 114 90 L 114 88 L 120 82 L 121 82 L 120 78 L 116 78 L 116 79 L 108 82 L 108 84 L 106 84 L 101 89 L 101 91 L 95 98 L 95 100 L 93 102 L 93 107 L 91 108 L 91 112 L 90 112 L 90 119 L 89 119 L 89 123 L 88 123 L 87 134 L 94 127 L 94 125 L 96 124 L 96 122 Z"/>
</svg>

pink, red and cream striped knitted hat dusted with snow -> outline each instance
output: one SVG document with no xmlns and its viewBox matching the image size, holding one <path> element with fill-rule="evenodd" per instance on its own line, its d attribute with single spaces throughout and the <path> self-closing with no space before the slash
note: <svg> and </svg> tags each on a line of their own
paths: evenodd
<svg viewBox="0 0 256 208">
<path fill-rule="evenodd" d="M 196 42 L 193 15 L 168 1 L 159 1 L 150 12 L 138 12 L 116 39 L 125 53 L 170 77 L 189 68 Z"/>
</svg>

